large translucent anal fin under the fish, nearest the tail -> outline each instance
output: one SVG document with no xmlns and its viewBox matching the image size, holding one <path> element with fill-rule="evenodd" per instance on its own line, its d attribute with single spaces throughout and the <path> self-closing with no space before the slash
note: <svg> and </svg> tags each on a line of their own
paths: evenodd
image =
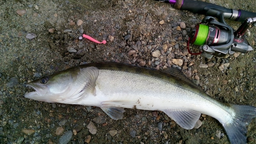
<svg viewBox="0 0 256 144">
<path fill-rule="evenodd" d="M 187 130 L 193 129 L 196 124 L 196 121 L 201 116 L 201 113 L 198 113 L 193 110 L 165 109 L 164 113 L 167 116 L 171 117 L 182 128 Z"/>
</svg>

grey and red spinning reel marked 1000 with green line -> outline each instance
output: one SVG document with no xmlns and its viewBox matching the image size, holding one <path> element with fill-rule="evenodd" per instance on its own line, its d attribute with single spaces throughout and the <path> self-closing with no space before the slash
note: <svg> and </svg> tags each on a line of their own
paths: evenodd
<svg viewBox="0 0 256 144">
<path fill-rule="evenodd" d="M 200 45 L 200 50 L 208 54 L 218 57 L 224 57 L 226 54 L 233 54 L 234 52 L 248 53 L 252 51 L 252 46 L 247 42 L 244 33 L 250 25 L 256 24 L 255 18 L 248 18 L 244 23 L 234 31 L 225 21 L 218 22 L 211 16 L 206 16 L 201 23 L 197 24 L 189 33 L 189 41 L 192 44 Z"/>
</svg>

